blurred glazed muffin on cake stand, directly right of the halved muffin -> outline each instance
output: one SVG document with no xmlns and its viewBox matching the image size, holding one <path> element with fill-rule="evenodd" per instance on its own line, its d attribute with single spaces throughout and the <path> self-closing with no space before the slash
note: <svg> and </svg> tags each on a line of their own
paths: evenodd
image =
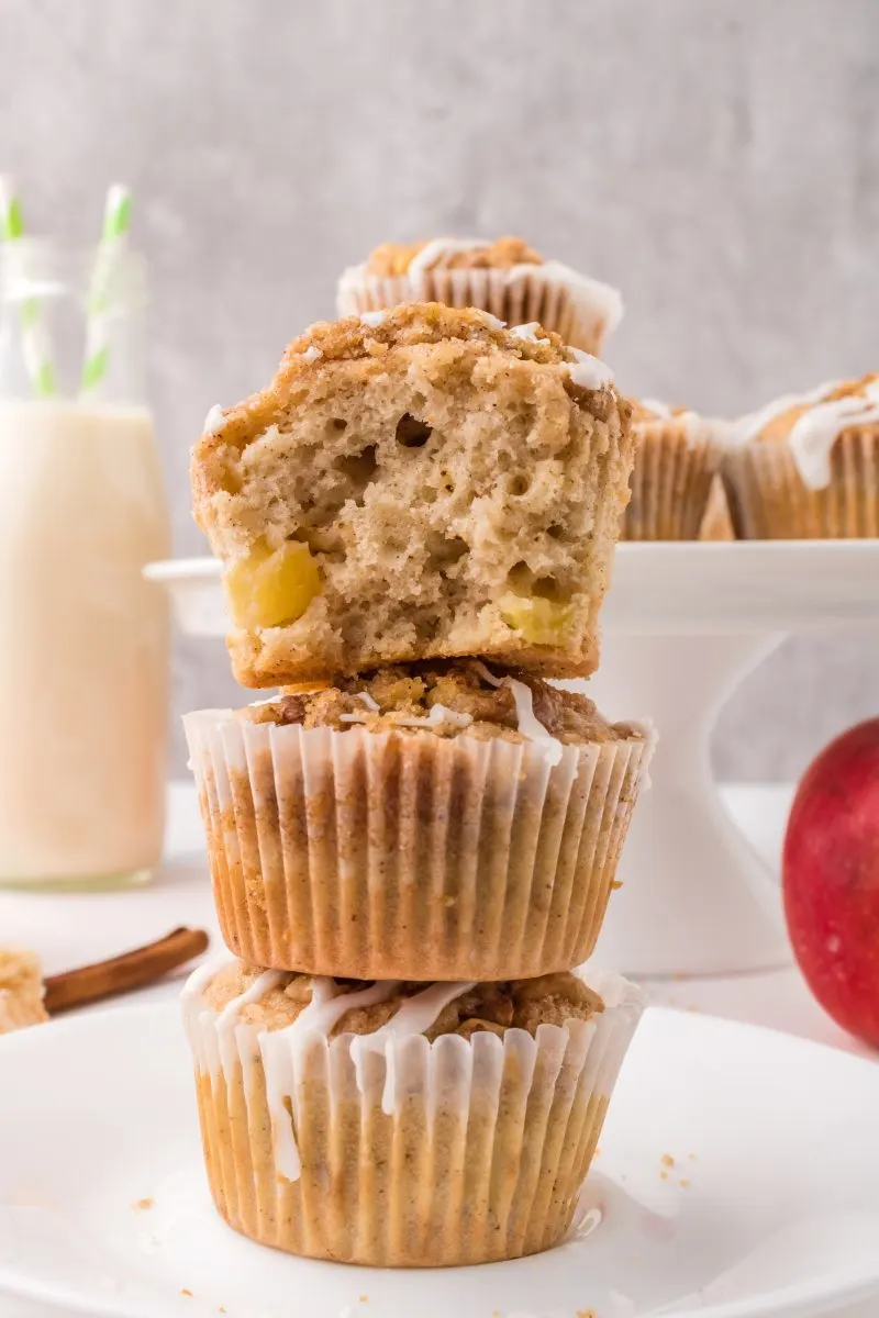
<svg viewBox="0 0 879 1318">
<path fill-rule="evenodd" d="M 720 467 L 717 426 L 659 402 L 633 409 L 635 463 L 625 540 L 696 540 Z"/>
</svg>

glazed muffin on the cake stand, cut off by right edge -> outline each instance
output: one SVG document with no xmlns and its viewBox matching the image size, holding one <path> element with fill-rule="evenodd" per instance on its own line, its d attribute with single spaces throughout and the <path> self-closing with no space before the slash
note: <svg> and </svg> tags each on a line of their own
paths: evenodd
<svg viewBox="0 0 879 1318">
<path fill-rule="evenodd" d="M 745 416 L 722 471 L 742 539 L 879 535 L 879 373 Z"/>
</svg>

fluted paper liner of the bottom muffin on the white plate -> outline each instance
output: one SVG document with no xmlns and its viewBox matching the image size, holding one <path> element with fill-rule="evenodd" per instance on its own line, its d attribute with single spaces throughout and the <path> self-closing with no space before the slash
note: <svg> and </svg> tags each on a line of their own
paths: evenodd
<svg viewBox="0 0 879 1318">
<path fill-rule="evenodd" d="M 378 1267 L 485 1263 L 557 1243 L 644 1007 L 617 975 L 589 983 L 606 1006 L 588 1021 L 543 1024 L 534 1037 L 390 1040 L 361 1068 L 352 1035 L 275 1045 L 266 1066 L 270 1032 L 219 1032 L 200 992 L 184 995 L 219 1211 L 264 1244 Z M 293 1177 L 278 1166 L 291 1140 Z"/>
</svg>

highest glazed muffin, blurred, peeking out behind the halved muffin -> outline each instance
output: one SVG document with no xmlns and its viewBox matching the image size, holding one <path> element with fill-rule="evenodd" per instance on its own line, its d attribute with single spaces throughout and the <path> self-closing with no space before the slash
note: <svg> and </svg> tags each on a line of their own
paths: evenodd
<svg viewBox="0 0 879 1318">
<path fill-rule="evenodd" d="M 538 320 L 572 347 L 596 355 L 623 312 L 617 289 L 561 261 L 544 261 L 515 237 L 383 243 L 339 279 L 340 316 L 382 311 L 401 302 L 481 307 L 510 326 Z"/>
</svg>

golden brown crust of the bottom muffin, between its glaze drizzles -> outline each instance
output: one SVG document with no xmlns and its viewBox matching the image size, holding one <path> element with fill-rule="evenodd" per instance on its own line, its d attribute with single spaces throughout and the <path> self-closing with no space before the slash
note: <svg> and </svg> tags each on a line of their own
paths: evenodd
<svg viewBox="0 0 879 1318">
<path fill-rule="evenodd" d="M 213 1011 L 221 1011 L 235 998 L 240 998 L 262 974 L 262 970 L 239 961 L 224 966 L 204 988 L 204 1002 Z M 337 979 L 343 992 L 356 992 L 368 987 L 361 979 Z M 283 974 L 278 987 L 270 988 L 260 1002 L 241 1007 L 239 1020 L 268 1029 L 291 1025 L 311 1002 L 311 975 Z M 372 1035 L 397 1014 L 406 998 L 427 988 L 420 982 L 405 982 L 386 1002 L 372 1007 L 357 1007 L 345 1012 L 332 1029 L 337 1035 Z M 604 1011 L 598 994 L 577 975 L 563 971 L 539 975 L 534 979 L 507 979 L 498 983 L 478 983 L 455 998 L 438 1015 L 424 1037 L 431 1043 L 440 1035 L 461 1035 L 469 1039 L 478 1031 L 502 1036 L 507 1029 L 527 1029 L 534 1035 L 538 1025 L 561 1025 L 565 1020 L 589 1020 Z"/>
</svg>

